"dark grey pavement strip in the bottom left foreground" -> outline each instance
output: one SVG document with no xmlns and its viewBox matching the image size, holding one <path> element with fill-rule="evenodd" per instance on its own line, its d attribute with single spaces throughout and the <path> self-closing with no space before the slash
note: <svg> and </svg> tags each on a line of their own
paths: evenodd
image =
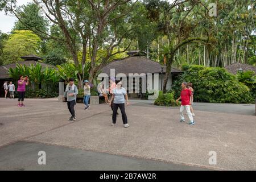
<svg viewBox="0 0 256 182">
<path fill-rule="evenodd" d="M 46 165 L 38 164 L 38 152 L 46 152 Z M 0 150 L 0 170 L 100 170 L 100 171 L 180 171 L 207 170 L 180 164 L 158 162 L 112 155 L 102 152 L 48 145 L 34 142 L 16 142 Z"/>
</svg>

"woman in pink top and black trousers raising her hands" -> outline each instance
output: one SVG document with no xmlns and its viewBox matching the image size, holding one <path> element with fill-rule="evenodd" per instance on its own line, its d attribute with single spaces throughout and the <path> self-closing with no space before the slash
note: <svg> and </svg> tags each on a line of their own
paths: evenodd
<svg viewBox="0 0 256 182">
<path fill-rule="evenodd" d="M 28 85 L 28 77 L 23 77 L 22 75 L 19 76 L 19 80 L 18 80 L 18 88 L 17 88 L 17 92 L 18 92 L 18 106 L 22 107 L 25 106 L 23 104 L 24 101 L 24 97 L 25 97 L 25 92 L 26 92 L 26 85 Z"/>
</svg>

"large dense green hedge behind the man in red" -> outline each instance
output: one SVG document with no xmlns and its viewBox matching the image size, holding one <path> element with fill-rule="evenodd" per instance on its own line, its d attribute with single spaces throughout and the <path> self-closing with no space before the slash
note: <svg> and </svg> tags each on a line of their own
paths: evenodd
<svg viewBox="0 0 256 182">
<path fill-rule="evenodd" d="M 182 67 L 184 73 L 174 81 L 172 90 L 179 97 L 181 82 L 192 82 L 195 90 L 194 101 L 217 103 L 251 103 L 255 100 L 250 89 L 238 81 L 225 68 L 188 65 Z"/>
</svg>

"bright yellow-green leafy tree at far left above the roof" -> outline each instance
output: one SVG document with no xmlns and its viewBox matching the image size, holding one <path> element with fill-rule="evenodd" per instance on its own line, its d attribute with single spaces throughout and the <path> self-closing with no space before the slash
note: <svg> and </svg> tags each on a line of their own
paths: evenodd
<svg viewBox="0 0 256 182">
<path fill-rule="evenodd" d="M 38 54 L 42 40 L 29 30 L 16 30 L 3 47 L 3 64 L 21 61 L 21 56 Z"/>
</svg>

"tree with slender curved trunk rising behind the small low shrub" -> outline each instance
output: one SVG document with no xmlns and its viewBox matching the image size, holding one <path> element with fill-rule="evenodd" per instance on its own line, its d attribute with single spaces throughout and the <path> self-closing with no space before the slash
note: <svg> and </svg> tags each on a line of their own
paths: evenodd
<svg viewBox="0 0 256 182">
<path fill-rule="evenodd" d="M 162 54 L 166 62 L 166 75 L 164 76 L 163 92 L 166 92 L 168 77 L 171 74 L 172 63 L 177 51 L 187 44 L 207 41 L 206 36 L 195 34 L 197 18 L 189 16 L 200 1 L 157 1 L 145 0 L 148 17 L 158 22 L 159 31 L 168 38 L 168 44 L 163 47 Z M 207 34 L 206 34 L 207 35 Z"/>
</svg>

